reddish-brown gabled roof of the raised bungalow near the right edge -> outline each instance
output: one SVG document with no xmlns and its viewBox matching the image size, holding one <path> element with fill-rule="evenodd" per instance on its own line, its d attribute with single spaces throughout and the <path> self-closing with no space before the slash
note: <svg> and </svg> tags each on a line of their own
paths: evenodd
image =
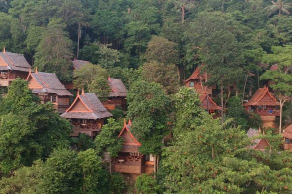
<svg viewBox="0 0 292 194">
<path fill-rule="evenodd" d="M 258 88 L 251 99 L 243 104 L 243 106 L 276 106 L 279 103 L 268 91 L 267 87 Z"/>
</svg>

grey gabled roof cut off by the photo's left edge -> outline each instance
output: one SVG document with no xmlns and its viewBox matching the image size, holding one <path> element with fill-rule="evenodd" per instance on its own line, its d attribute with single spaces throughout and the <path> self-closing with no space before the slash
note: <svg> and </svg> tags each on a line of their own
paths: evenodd
<svg viewBox="0 0 292 194">
<path fill-rule="evenodd" d="M 5 66 L 0 66 L 0 70 L 29 72 L 29 69 L 31 68 L 22 54 L 6 52 L 5 48 L 3 48 L 3 52 L 0 52 L 0 61 L 5 64 Z"/>
</svg>

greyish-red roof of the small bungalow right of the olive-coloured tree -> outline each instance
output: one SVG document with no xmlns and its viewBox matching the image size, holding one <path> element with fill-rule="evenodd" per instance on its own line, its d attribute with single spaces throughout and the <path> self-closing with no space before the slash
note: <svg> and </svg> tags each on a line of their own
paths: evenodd
<svg viewBox="0 0 292 194">
<path fill-rule="evenodd" d="M 111 89 L 108 97 L 126 97 L 127 90 L 120 79 L 108 77 L 107 82 Z"/>
</svg>

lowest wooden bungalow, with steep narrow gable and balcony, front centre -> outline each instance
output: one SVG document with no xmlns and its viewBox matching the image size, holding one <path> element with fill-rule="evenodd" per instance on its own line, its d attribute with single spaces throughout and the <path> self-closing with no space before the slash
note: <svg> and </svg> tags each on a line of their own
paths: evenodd
<svg viewBox="0 0 292 194">
<path fill-rule="evenodd" d="M 118 137 L 122 137 L 124 143 L 118 156 L 111 159 L 111 169 L 114 172 L 141 175 L 154 172 L 154 157 L 139 153 L 141 144 L 130 133 L 131 121 L 124 121 L 123 128 Z"/>
</svg>

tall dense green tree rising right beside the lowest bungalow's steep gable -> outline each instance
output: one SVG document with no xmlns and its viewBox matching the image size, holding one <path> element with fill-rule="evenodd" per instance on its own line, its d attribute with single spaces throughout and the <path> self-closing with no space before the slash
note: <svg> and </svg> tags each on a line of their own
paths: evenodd
<svg viewBox="0 0 292 194">
<path fill-rule="evenodd" d="M 127 117 L 131 119 L 131 132 L 141 143 L 139 151 L 159 153 L 162 138 L 167 132 L 167 106 L 169 99 L 157 83 L 135 82 L 126 97 Z"/>
</svg>

